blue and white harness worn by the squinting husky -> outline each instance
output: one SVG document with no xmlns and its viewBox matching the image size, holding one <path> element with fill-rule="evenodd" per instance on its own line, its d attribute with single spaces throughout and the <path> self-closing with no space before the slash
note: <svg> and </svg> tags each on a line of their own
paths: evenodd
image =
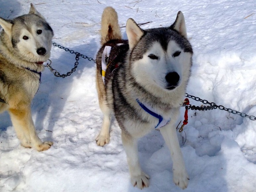
<svg viewBox="0 0 256 192">
<path fill-rule="evenodd" d="M 123 45 L 123 43 L 119 43 L 117 44 L 117 46 Z M 101 69 L 102 69 L 102 80 L 103 83 L 105 84 L 105 73 L 107 70 L 108 65 L 106 64 L 106 58 L 109 57 L 110 52 L 111 52 L 111 46 L 105 46 L 103 53 L 102 53 L 102 58 L 101 58 Z M 111 63 L 111 62 L 110 62 Z M 153 112 L 153 109 L 150 106 L 146 106 L 143 103 L 141 103 L 138 99 L 136 99 L 137 103 L 139 104 L 139 106 L 146 111 L 148 114 L 152 115 L 153 117 L 158 119 L 158 124 L 155 126 L 155 129 L 159 129 L 163 126 L 165 126 L 170 120 L 169 119 L 164 119 L 163 116 Z"/>
</svg>

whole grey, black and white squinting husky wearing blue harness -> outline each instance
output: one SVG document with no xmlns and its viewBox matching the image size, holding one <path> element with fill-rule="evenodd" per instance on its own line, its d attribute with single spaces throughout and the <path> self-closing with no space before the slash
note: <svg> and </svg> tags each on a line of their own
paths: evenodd
<svg viewBox="0 0 256 192">
<path fill-rule="evenodd" d="M 131 183 L 142 189 L 148 187 L 149 176 L 139 165 L 137 139 L 159 129 L 171 152 L 173 180 L 184 189 L 189 177 L 174 125 L 192 65 L 184 16 L 179 11 L 170 27 L 146 30 L 130 18 L 126 32 L 128 40 L 123 40 L 117 13 L 107 7 L 102 14 L 102 47 L 96 59 L 96 86 L 103 112 L 97 144 L 109 143 L 114 112 L 122 130 Z"/>
</svg>

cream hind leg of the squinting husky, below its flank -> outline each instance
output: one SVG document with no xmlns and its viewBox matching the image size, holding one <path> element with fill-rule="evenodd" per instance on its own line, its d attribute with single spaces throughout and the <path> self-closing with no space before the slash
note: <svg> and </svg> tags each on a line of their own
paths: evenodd
<svg viewBox="0 0 256 192">
<path fill-rule="evenodd" d="M 104 146 L 105 144 L 109 143 L 110 135 L 109 135 L 109 128 L 111 124 L 111 109 L 107 106 L 106 100 L 101 100 L 99 102 L 100 109 L 103 113 L 103 123 L 100 130 L 99 135 L 96 138 L 97 145 Z"/>
</svg>

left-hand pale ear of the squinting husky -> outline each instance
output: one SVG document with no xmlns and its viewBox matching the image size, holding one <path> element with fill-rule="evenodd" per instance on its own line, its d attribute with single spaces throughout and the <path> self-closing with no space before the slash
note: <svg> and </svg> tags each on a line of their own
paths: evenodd
<svg viewBox="0 0 256 192">
<path fill-rule="evenodd" d="M 126 33 L 129 42 L 129 49 L 132 49 L 144 34 L 144 31 L 135 23 L 133 19 L 129 18 L 126 23 Z"/>
</svg>

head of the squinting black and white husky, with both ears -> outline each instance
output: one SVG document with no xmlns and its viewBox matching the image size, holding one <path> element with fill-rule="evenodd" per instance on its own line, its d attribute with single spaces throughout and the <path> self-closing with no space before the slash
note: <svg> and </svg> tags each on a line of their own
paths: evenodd
<svg viewBox="0 0 256 192">
<path fill-rule="evenodd" d="M 131 18 L 126 26 L 129 67 L 136 81 L 146 89 L 155 88 L 156 92 L 186 86 L 193 51 L 182 12 L 170 27 L 142 30 Z"/>
</svg>

